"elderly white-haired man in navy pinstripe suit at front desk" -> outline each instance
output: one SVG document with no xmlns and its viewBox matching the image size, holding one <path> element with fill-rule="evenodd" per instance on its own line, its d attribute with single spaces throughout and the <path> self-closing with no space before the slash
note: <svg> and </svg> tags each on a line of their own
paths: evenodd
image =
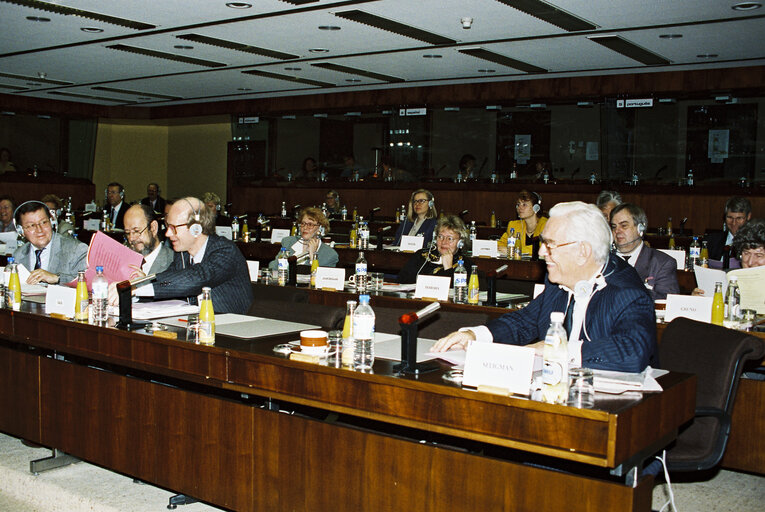
<svg viewBox="0 0 765 512">
<path fill-rule="evenodd" d="M 573 364 L 627 372 L 656 366 L 653 301 L 635 269 L 610 253 L 611 230 L 600 210 L 579 201 L 555 205 L 540 242 L 544 291 L 521 310 L 449 334 L 433 351 L 474 341 L 528 345 L 544 339 L 550 313 L 560 311 Z"/>
</svg>

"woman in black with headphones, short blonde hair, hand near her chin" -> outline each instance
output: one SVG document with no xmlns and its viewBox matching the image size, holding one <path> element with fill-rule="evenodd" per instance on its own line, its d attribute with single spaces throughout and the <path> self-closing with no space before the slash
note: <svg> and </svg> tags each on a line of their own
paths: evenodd
<svg viewBox="0 0 765 512">
<path fill-rule="evenodd" d="M 456 215 L 444 215 L 436 223 L 436 239 L 432 244 L 417 251 L 398 274 L 399 283 L 417 282 L 418 275 L 452 277 L 457 261 L 463 254 L 468 230 L 465 223 Z M 471 263 L 462 256 L 470 273 Z"/>
</svg>

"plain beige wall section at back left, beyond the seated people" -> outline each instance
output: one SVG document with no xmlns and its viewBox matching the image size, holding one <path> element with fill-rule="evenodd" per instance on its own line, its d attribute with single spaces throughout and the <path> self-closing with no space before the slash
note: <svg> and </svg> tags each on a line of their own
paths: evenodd
<svg viewBox="0 0 765 512">
<path fill-rule="evenodd" d="M 101 119 L 98 123 L 93 182 L 103 202 L 106 184 L 125 186 L 125 198 L 139 201 L 146 185 L 159 183 L 164 197 L 226 196 L 229 116 L 181 121 Z"/>
</svg>

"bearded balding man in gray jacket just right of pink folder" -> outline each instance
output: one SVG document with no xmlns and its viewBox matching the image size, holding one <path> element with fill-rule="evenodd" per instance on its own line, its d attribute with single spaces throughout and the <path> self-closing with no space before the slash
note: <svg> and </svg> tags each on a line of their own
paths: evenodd
<svg viewBox="0 0 765 512">
<path fill-rule="evenodd" d="M 173 262 L 173 250 L 160 243 L 158 233 L 159 222 L 151 206 L 136 204 L 125 212 L 125 238 L 143 256 L 140 270 L 147 275 L 159 274 Z"/>
</svg>

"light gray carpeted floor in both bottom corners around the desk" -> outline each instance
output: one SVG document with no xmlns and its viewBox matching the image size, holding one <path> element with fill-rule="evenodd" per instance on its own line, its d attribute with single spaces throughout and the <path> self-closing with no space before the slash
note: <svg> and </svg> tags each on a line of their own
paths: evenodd
<svg viewBox="0 0 765 512">
<path fill-rule="evenodd" d="M 0 434 L 1 512 L 162 512 L 173 495 L 84 462 L 32 475 L 29 461 L 48 455 L 50 450 L 29 448 Z M 765 503 L 763 476 L 720 471 L 707 481 L 673 483 L 672 487 L 677 510 L 682 512 L 760 512 Z M 660 484 L 653 494 L 654 510 L 666 501 L 666 484 Z M 220 510 L 201 503 L 177 509 Z"/>
</svg>

